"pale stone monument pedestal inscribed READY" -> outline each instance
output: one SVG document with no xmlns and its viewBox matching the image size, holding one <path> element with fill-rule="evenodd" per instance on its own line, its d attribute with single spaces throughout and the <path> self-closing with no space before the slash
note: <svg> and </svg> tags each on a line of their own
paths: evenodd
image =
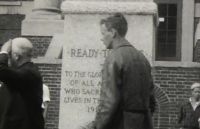
<svg viewBox="0 0 200 129">
<path fill-rule="evenodd" d="M 64 1 L 65 15 L 59 129 L 80 129 L 94 120 L 101 69 L 109 53 L 101 42 L 100 20 L 116 12 L 128 21 L 128 41 L 151 62 L 157 7 L 150 2 Z"/>
</svg>

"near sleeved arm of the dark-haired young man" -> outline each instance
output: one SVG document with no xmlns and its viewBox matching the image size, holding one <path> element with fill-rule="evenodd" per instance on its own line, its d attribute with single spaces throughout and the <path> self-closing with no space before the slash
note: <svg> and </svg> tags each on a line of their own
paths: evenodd
<svg viewBox="0 0 200 129">
<path fill-rule="evenodd" d="M 103 71 L 100 104 L 96 114 L 96 129 L 105 128 L 112 120 L 120 101 L 119 68 L 116 63 L 106 64 Z"/>
</svg>

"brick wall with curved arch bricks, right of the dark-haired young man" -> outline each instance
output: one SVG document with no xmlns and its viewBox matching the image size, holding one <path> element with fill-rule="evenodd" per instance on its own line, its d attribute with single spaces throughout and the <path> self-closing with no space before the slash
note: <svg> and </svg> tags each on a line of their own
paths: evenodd
<svg viewBox="0 0 200 129">
<path fill-rule="evenodd" d="M 200 81 L 200 68 L 155 67 L 153 77 L 156 89 L 160 90 L 156 92 L 158 110 L 155 114 L 155 127 L 177 129 L 180 105 L 188 100 L 191 84 Z"/>
</svg>

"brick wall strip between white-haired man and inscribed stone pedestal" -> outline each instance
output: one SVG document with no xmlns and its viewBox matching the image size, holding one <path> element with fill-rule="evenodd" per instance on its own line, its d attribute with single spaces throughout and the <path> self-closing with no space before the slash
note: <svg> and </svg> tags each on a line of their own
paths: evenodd
<svg viewBox="0 0 200 129">
<path fill-rule="evenodd" d="M 46 128 L 58 129 L 59 100 L 61 84 L 61 64 L 38 64 L 43 76 L 43 82 L 50 90 L 50 104 L 48 108 Z"/>
</svg>

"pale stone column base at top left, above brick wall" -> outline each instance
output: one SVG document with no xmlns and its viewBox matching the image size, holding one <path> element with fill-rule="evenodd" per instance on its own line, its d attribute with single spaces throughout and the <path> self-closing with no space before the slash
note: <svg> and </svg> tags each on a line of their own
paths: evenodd
<svg viewBox="0 0 200 129">
<path fill-rule="evenodd" d="M 34 9 L 22 22 L 22 35 L 53 36 L 63 33 L 60 0 L 35 0 Z"/>
</svg>

